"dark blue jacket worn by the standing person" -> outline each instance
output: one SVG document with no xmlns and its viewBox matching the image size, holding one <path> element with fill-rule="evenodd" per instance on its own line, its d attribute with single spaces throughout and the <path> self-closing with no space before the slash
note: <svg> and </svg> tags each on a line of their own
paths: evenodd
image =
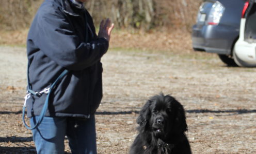
<svg viewBox="0 0 256 154">
<path fill-rule="evenodd" d="M 64 69 L 70 70 L 53 89 L 46 116 L 94 114 L 102 99 L 101 57 L 108 41 L 98 38 L 90 14 L 69 0 L 45 0 L 27 37 L 28 79 L 32 90 L 50 87 Z M 39 115 L 46 94 L 27 100 L 28 117 Z"/>
</svg>

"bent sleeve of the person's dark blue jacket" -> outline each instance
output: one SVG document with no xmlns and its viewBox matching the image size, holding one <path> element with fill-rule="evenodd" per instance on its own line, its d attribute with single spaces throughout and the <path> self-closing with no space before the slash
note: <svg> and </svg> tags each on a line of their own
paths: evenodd
<svg viewBox="0 0 256 154">
<path fill-rule="evenodd" d="M 82 70 L 93 65 L 108 49 L 105 38 L 81 42 L 65 15 L 53 8 L 41 10 L 35 30 L 33 40 L 39 49 L 58 65 L 70 70 Z"/>
</svg>

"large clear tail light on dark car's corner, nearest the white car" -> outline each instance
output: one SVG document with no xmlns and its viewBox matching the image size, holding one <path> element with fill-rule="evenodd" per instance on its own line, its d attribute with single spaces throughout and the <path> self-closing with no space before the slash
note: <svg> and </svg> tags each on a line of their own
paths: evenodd
<svg viewBox="0 0 256 154">
<path fill-rule="evenodd" d="M 213 4 L 212 9 L 209 13 L 207 24 L 218 25 L 224 10 L 225 7 L 220 2 L 216 1 Z"/>
</svg>

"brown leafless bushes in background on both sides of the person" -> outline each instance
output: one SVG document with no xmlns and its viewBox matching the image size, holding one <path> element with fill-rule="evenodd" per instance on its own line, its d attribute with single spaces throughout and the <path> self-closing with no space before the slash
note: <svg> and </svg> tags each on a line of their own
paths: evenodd
<svg viewBox="0 0 256 154">
<path fill-rule="evenodd" d="M 0 28 L 27 28 L 43 0 L 9 0 L 0 6 Z M 89 0 L 86 8 L 95 24 L 110 17 L 117 28 L 149 30 L 171 27 L 189 30 L 195 22 L 199 0 Z"/>
</svg>

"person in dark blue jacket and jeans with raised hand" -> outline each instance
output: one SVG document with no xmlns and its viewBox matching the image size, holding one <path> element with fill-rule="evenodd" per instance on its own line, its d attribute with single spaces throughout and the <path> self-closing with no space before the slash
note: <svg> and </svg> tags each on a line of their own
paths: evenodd
<svg viewBox="0 0 256 154">
<path fill-rule="evenodd" d="M 40 125 L 33 129 L 37 153 L 97 153 L 94 113 L 102 99 L 101 57 L 107 52 L 114 24 L 102 20 L 98 35 L 84 8 L 87 0 L 45 0 L 27 36 L 28 83 L 33 91 L 49 87 L 63 70 L 68 73 L 52 89 Z M 35 126 L 45 93 L 26 101 Z"/>
</svg>

